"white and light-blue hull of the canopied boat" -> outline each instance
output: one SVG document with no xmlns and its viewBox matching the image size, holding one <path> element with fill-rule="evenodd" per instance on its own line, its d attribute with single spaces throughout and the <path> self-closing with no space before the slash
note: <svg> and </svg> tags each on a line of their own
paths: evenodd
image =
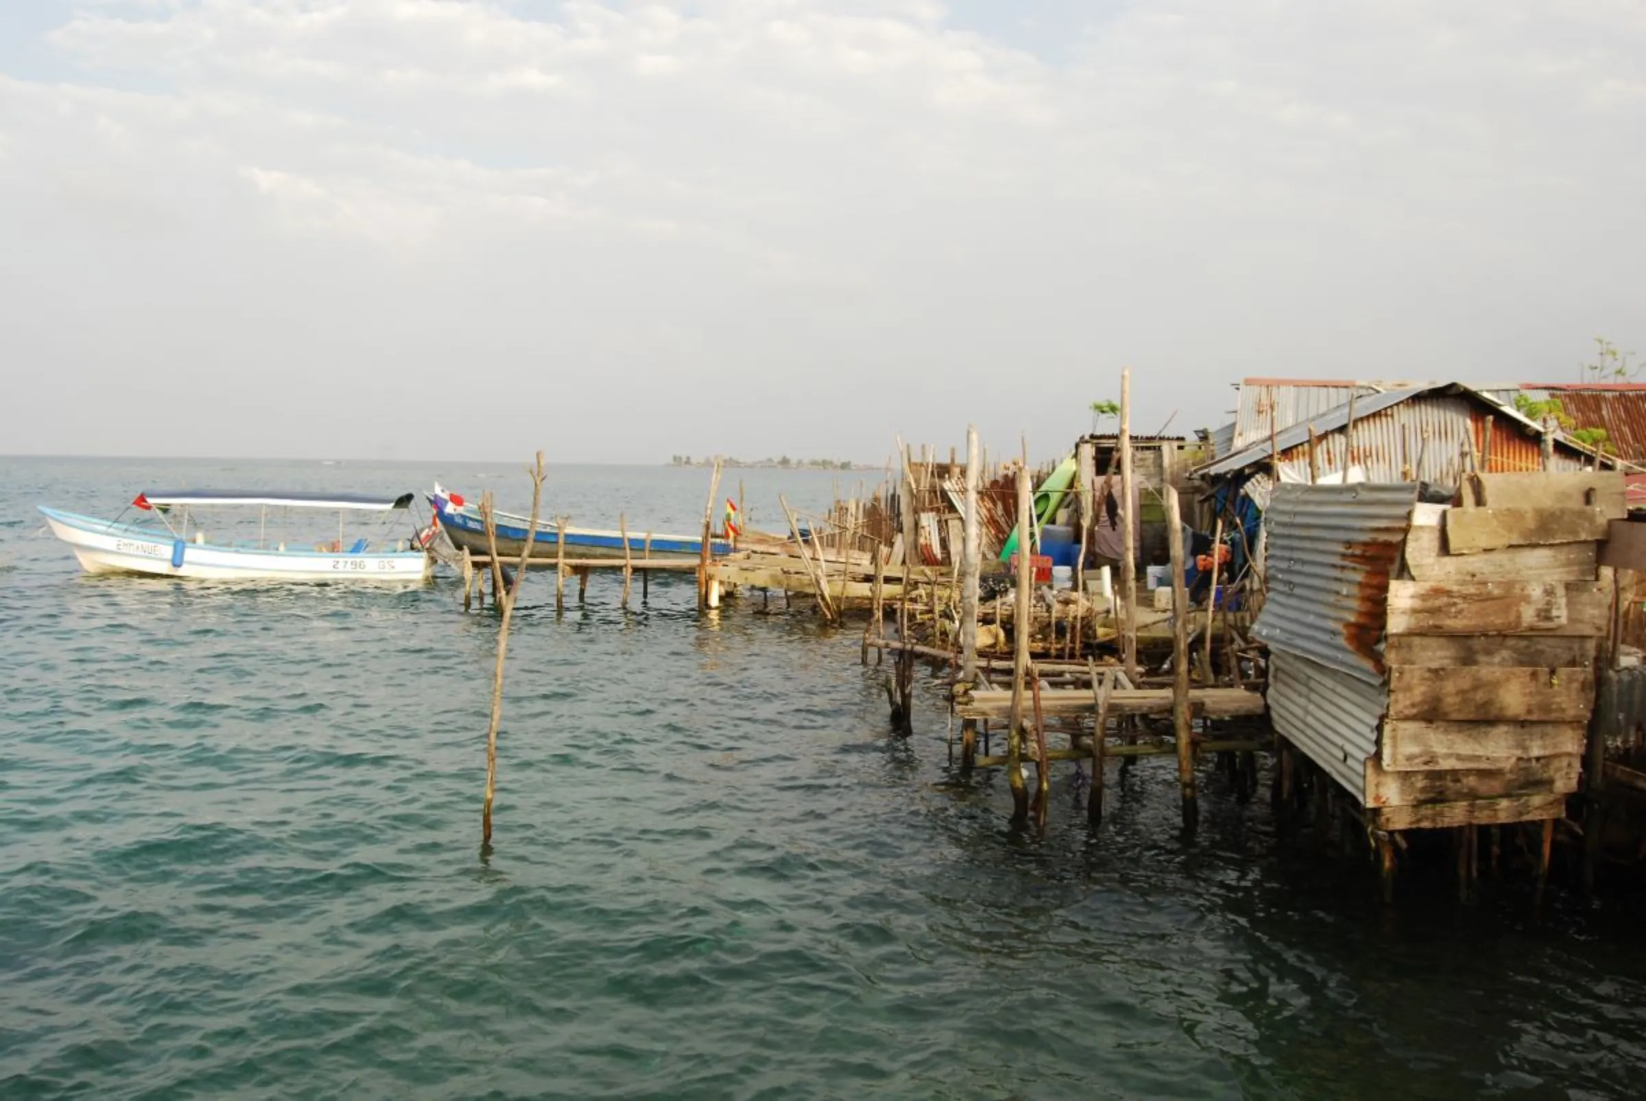
<svg viewBox="0 0 1646 1101">
<path fill-rule="evenodd" d="M 423 551 L 334 555 L 184 543 L 170 533 L 41 509 L 51 533 L 69 545 L 86 573 L 217 581 L 336 581 L 415 584 L 430 576 Z"/>
</svg>

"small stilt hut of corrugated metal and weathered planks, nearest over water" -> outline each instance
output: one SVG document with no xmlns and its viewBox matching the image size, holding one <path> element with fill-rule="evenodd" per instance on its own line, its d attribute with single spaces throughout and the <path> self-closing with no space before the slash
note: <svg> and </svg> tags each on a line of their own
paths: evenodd
<svg viewBox="0 0 1646 1101">
<path fill-rule="evenodd" d="M 1368 829 L 1564 816 L 1611 624 L 1616 472 L 1281 485 L 1264 517 L 1276 734 Z M 1393 857 L 1389 857 L 1393 859 Z"/>
</svg>

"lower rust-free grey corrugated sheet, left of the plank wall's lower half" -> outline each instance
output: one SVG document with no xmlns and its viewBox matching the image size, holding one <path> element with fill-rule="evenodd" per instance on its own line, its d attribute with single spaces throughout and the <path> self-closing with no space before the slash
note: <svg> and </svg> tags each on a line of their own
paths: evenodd
<svg viewBox="0 0 1646 1101">
<path fill-rule="evenodd" d="M 1269 721 L 1276 734 L 1302 750 L 1366 803 L 1366 759 L 1378 752 L 1378 731 L 1389 709 L 1389 686 L 1328 670 L 1292 653 L 1269 655 Z"/>
</svg>

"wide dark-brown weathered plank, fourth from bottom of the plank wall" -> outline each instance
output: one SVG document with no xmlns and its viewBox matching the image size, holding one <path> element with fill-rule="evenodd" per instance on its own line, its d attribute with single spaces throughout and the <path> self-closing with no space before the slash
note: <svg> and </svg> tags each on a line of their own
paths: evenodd
<svg viewBox="0 0 1646 1101">
<path fill-rule="evenodd" d="M 1458 722 L 1587 722 L 1592 668 L 1389 668 L 1389 718 Z"/>
</svg>

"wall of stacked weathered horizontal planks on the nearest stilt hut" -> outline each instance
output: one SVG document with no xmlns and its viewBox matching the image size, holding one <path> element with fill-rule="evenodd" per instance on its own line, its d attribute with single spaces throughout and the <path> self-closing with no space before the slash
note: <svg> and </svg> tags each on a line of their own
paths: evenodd
<svg viewBox="0 0 1646 1101">
<path fill-rule="evenodd" d="M 1366 762 L 1383 829 L 1557 818 L 1577 790 L 1611 584 L 1615 472 L 1472 476 L 1417 505 L 1389 584 L 1389 711 Z"/>
</svg>

